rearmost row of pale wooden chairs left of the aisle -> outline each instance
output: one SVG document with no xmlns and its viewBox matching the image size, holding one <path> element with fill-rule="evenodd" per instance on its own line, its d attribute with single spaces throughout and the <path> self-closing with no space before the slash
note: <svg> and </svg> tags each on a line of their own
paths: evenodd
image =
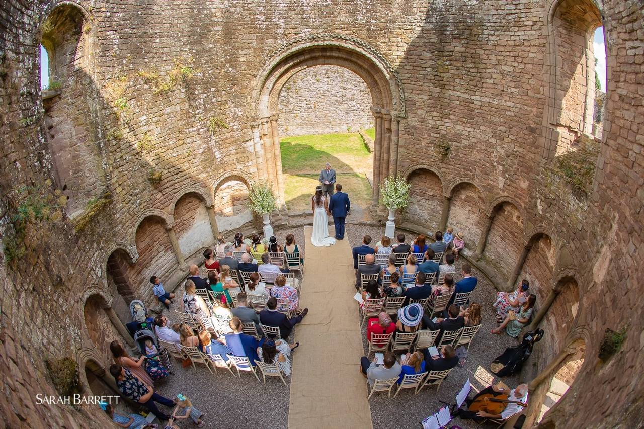
<svg viewBox="0 0 644 429">
<path fill-rule="evenodd" d="M 232 368 L 234 368 L 237 370 L 238 377 L 242 376 L 241 371 L 252 372 L 257 381 L 260 381 L 260 377 L 258 377 L 255 367 L 251 365 L 251 360 L 246 356 L 234 356 L 232 354 L 227 354 L 226 357 L 228 358 L 228 360 L 226 360 L 223 359 L 220 354 L 204 353 L 197 347 L 182 346 L 181 348 L 178 348 L 176 347 L 175 343 L 169 343 L 168 341 L 162 340 L 159 340 L 159 343 L 160 345 L 162 345 L 162 347 L 168 350 L 171 356 L 176 357 L 176 359 L 186 359 L 187 357 L 189 357 L 194 370 L 196 370 L 196 364 L 199 363 L 205 365 L 205 367 L 208 368 L 211 374 L 217 374 L 217 367 L 220 367 L 229 370 L 229 372 L 234 377 L 235 374 L 234 372 L 232 372 Z M 261 377 L 264 381 L 264 384 L 266 384 L 266 377 L 279 377 L 282 383 L 286 385 L 286 381 L 284 380 L 282 372 L 279 369 L 277 361 L 271 364 L 254 359 L 254 362 L 256 364 L 256 367 L 260 368 Z"/>
</svg>

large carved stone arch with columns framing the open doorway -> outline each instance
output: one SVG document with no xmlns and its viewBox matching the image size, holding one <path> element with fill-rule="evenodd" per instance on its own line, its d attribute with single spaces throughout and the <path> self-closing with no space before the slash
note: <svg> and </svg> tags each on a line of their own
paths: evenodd
<svg viewBox="0 0 644 429">
<path fill-rule="evenodd" d="M 379 184 L 398 169 L 400 120 L 404 94 L 395 69 L 369 44 L 337 34 L 305 35 L 279 46 L 261 70 L 252 93 L 251 117 L 254 152 L 260 180 L 274 186 L 281 205 L 285 184 L 279 148 L 279 94 L 289 79 L 314 66 L 339 66 L 355 73 L 368 87 L 375 122 L 372 204 L 377 205 Z"/>
</svg>

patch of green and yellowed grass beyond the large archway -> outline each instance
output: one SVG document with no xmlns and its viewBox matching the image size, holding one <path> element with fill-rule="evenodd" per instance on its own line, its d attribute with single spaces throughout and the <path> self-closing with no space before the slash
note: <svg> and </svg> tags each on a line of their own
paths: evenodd
<svg viewBox="0 0 644 429">
<path fill-rule="evenodd" d="M 359 133 L 285 137 L 279 146 L 289 210 L 310 210 L 310 196 L 327 162 L 336 170 L 337 182 L 352 204 L 363 208 L 370 204 L 374 157 Z"/>
</svg>

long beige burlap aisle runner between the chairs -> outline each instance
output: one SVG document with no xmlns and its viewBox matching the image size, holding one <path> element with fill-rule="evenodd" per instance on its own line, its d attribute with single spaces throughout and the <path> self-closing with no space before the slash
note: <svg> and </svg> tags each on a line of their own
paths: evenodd
<svg viewBox="0 0 644 429">
<path fill-rule="evenodd" d="M 369 429 L 351 248 L 346 236 L 334 246 L 314 247 L 311 233 L 307 227 L 300 308 L 309 312 L 296 327 L 289 428 Z"/>
</svg>

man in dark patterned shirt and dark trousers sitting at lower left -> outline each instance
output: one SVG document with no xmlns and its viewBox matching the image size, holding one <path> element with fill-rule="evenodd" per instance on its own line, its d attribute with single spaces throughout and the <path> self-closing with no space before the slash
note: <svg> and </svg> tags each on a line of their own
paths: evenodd
<svg viewBox="0 0 644 429">
<path fill-rule="evenodd" d="M 156 393 L 150 385 L 146 385 L 146 383 L 140 381 L 129 369 L 121 365 L 111 365 L 109 367 L 109 374 L 114 377 L 118 391 L 124 397 L 144 406 L 160 420 L 167 420 L 172 417 L 156 408 L 155 402 L 172 407 L 176 405 L 176 401 L 167 399 L 167 397 Z"/>
</svg>

